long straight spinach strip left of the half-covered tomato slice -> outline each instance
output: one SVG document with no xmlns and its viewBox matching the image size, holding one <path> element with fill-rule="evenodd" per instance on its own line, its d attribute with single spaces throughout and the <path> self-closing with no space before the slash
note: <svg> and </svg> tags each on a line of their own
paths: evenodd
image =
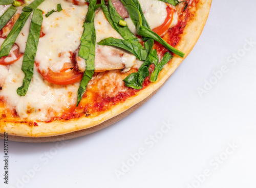
<svg viewBox="0 0 256 188">
<path fill-rule="evenodd" d="M 31 19 L 27 45 L 25 48 L 24 58 L 22 63 L 22 71 L 24 72 L 25 77 L 23 79 L 22 86 L 17 89 L 17 94 L 19 96 L 26 95 L 29 88 L 29 84 L 33 76 L 35 55 L 36 55 L 37 45 L 40 37 L 41 25 L 42 25 L 42 11 L 40 9 L 35 9 Z"/>
</svg>

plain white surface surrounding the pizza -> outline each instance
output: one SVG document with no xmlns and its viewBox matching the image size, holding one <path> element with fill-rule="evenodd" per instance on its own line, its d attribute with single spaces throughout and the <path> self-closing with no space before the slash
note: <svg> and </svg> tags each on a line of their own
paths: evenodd
<svg viewBox="0 0 256 188">
<path fill-rule="evenodd" d="M 255 187 L 255 7 L 214 0 L 190 55 L 155 96 L 118 123 L 58 144 L 9 141 L 9 184 L 0 155 L 0 187 Z M 216 81 L 213 71 L 223 68 Z M 161 135 L 163 123 L 173 126 Z M 149 142 L 151 136 L 158 139 Z M 139 148 L 144 152 L 135 162 L 131 153 Z"/>
</svg>

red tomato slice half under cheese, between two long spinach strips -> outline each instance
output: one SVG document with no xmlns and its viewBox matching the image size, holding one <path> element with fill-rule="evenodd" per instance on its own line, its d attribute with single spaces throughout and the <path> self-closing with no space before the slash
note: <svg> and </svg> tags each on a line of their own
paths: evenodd
<svg viewBox="0 0 256 188">
<path fill-rule="evenodd" d="M 48 72 L 41 71 L 38 67 L 39 64 L 35 62 L 38 72 L 44 77 L 48 82 L 57 85 L 69 85 L 79 82 L 82 79 L 83 73 L 77 72 L 74 65 L 71 66 L 69 63 L 65 63 L 60 72 L 53 72 L 48 68 Z M 70 71 L 66 72 L 68 69 L 72 68 Z"/>
</svg>

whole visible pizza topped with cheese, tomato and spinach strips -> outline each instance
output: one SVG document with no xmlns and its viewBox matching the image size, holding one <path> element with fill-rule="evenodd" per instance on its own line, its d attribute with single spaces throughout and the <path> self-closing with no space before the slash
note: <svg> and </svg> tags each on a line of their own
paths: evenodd
<svg viewBox="0 0 256 188">
<path fill-rule="evenodd" d="M 133 112 L 197 42 L 211 0 L 0 0 L 0 132 L 69 139 Z"/>
</svg>

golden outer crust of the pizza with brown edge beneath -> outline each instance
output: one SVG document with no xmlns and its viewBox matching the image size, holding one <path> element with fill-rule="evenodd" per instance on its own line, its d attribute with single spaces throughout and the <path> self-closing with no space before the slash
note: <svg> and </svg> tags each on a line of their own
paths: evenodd
<svg viewBox="0 0 256 188">
<path fill-rule="evenodd" d="M 201 0 L 197 5 L 197 12 L 187 23 L 179 45 L 179 50 L 185 52 L 185 57 L 193 49 L 206 23 L 211 0 Z M 185 58 L 184 57 L 184 58 Z M 28 123 L 14 123 L 1 121 L 0 139 L 3 133 L 8 132 L 9 140 L 18 142 L 54 142 L 72 139 L 105 128 L 135 111 L 144 102 L 150 99 L 172 75 L 183 61 L 183 58 L 174 56 L 171 63 L 166 64 L 160 72 L 157 82 L 136 93 L 125 102 L 112 106 L 98 116 L 89 116 L 70 119 L 67 121 L 39 122 L 38 126 L 28 126 Z"/>
</svg>

